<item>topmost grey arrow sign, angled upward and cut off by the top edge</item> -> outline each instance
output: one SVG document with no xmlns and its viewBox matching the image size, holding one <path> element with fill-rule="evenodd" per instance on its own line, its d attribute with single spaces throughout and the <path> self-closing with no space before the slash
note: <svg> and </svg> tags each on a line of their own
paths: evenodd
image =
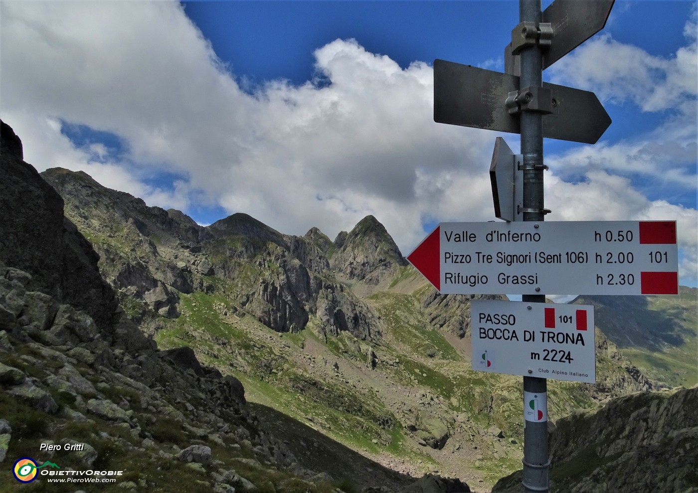
<svg viewBox="0 0 698 493">
<path fill-rule="evenodd" d="M 594 34 L 604 29 L 616 0 L 555 0 L 543 10 L 542 22 L 553 29 L 551 45 L 543 52 L 543 69 L 548 68 Z M 519 55 L 511 45 L 504 50 L 505 70 L 519 75 Z"/>
</svg>

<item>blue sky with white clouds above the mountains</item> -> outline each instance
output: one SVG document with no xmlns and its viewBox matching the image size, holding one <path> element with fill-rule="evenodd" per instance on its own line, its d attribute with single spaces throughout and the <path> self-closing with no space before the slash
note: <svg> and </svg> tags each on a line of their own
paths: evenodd
<svg viewBox="0 0 698 493">
<path fill-rule="evenodd" d="M 435 222 L 493 219 L 494 139 L 518 135 L 434 123 L 431 64 L 503 71 L 518 22 L 515 1 L 3 0 L 0 116 L 38 170 L 200 223 L 334 238 L 373 214 L 407 253 Z M 616 0 L 544 72 L 613 119 L 593 146 L 545 141 L 547 219 L 676 219 L 692 286 L 696 65 L 695 2 Z"/>
</svg>

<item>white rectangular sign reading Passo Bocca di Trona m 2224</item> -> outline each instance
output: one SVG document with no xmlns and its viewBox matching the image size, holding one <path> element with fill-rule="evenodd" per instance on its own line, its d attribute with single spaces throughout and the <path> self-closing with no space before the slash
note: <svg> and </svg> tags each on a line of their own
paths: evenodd
<svg viewBox="0 0 698 493">
<path fill-rule="evenodd" d="M 470 302 L 473 369 L 594 383 L 594 309 L 577 304 Z"/>
</svg>

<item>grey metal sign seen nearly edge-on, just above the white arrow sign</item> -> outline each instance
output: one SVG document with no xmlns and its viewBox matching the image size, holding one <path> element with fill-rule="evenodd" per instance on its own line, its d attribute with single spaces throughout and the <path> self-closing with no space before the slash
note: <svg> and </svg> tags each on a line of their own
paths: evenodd
<svg viewBox="0 0 698 493">
<path fill-rule="evenodd" d="M 514 154 L 503 138 L 494 141 L 489 181 L 492 184 L 494 215 L 503 221 L 521 221 L 519 207 L 523 207 L 523 172 L 517 162 L 521 154 Z"/>
</svg>

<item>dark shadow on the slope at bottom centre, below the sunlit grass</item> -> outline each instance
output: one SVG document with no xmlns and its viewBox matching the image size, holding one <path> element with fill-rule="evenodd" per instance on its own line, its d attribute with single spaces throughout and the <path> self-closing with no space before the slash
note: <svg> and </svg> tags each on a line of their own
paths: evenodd
<svg viewBox="0 0 698 493">
<path fill-rule="evenodd" d="M 248 402 L 247 407 L 257 415 L 262 428 L 273 430 L 276 439 L 291 450 L 302 468 L 327 473 L 336 481 L 352 483 L 357 490 L 380 486 L 401 490 L 417 479 L 366 459 L 308 425 L 268 406 Z"/>
</svg>

